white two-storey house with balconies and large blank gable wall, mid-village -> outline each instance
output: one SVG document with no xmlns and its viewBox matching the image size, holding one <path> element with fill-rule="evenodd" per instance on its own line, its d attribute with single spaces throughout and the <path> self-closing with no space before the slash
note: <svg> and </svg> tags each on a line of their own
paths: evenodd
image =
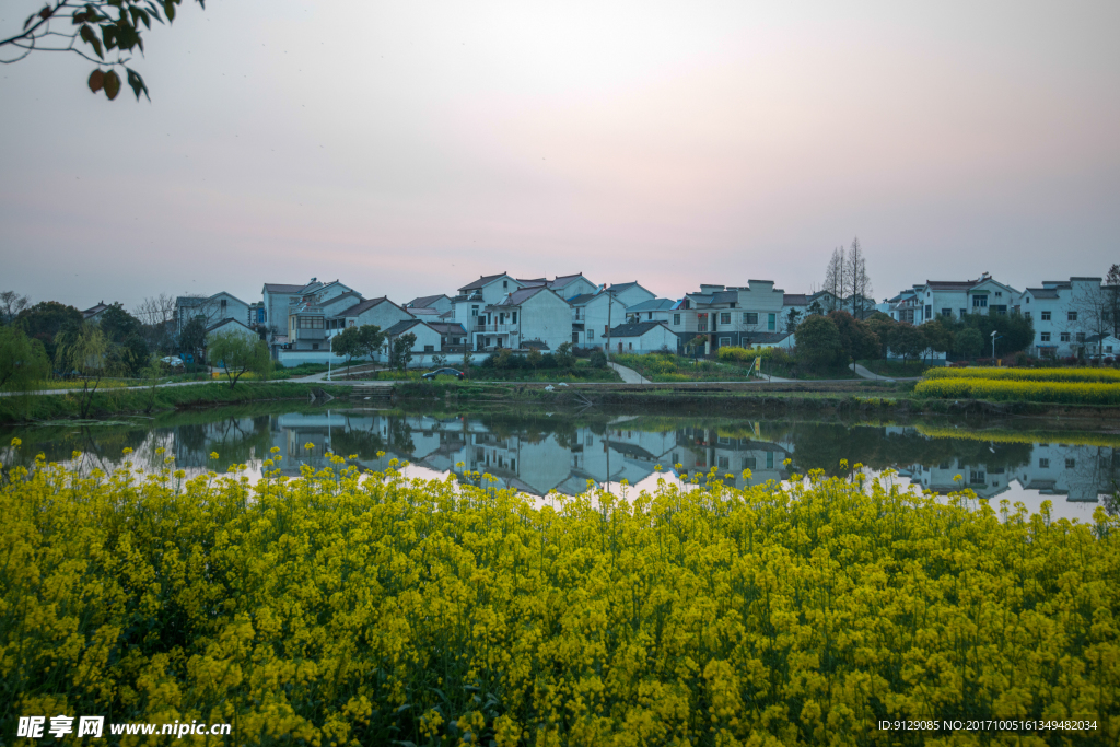
<svg viewBox="0 0 1120 747">
<path fill-rule="evenodd" d="M 485 306 L 466 327 L 476 351 L 538 347 L 554 351 L 571 339 L 571 307 L 543 286 L 521 288 Z"/>
</svg>

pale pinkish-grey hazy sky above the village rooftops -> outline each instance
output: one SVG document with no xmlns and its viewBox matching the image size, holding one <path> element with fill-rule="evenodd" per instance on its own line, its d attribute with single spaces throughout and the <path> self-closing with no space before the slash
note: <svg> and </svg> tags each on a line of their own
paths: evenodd
<svg viewBox="0 0 1120 747">
<path fill-rule="evenodd" d="M 0 37 L 43 0 L 4 0 Z M 584 272 L 878 298 L 1120 262 L 1120 3 L 184 0 L 0 66 L 0 290 L 78 308 Z"/>
</svg>

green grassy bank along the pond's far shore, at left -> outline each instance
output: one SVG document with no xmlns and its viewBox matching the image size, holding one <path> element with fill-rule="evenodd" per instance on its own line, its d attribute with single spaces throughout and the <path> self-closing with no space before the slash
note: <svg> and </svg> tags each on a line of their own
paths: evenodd
<svg viewBox="0 0 1120 747">
<path fill-rule="evenodd" d="M 151 413 L 180 408 L 211 407 L 237 402 L 310 399 L 312 391 L 326 389 L 334 395 L 346 394 L 345 387 L 287 382 L 242 382 L 230 389 L 225 384 L 162 386 L 150 390 L 108 390 L 93 395 L 88 417 Z M 30 394 L 0 398 L 0 423 L 35 420 L 60 420 L 81 415 L 76 394 Z"/>
</svg>

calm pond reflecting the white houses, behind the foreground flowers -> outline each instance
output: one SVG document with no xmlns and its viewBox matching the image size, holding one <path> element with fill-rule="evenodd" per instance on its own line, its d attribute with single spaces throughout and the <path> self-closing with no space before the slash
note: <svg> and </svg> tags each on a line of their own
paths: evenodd
<svg viewBox="0 0 1120 747">
<path fill-rule="evenodd" d="M 7 445 L 19 437 L 24 446 Z M 1046 440 L 1043 440 L 1046 439 Z M 52 461 L 83 454 L 84 469 L 112 469 L 125 447 L 134 464 L 156 468 L 159 448 L 190 473 L 224 471 L 260 463 L 278 447 L 284 471 L 302 464 L 326 465 L 326 454 L 357 455 L 371 469 L 392 458 L 410 463 L 407 474 L 444 477 L 464 469 L 489 473 L 501 487 L 533 495 L 559 491 L 570 495 L 588 484 L 618 489 L 623 480 L 638 489 L 656 485 L 655 467 L 675 479 L 681 471 L 731 473 L 726 480 L 786 480 L 792 473 L 821 468 L 831 474 L 841 459 L 861 463 L 875 474 L 886 468 L 895 478 L 937 493 L 958 489 L 960 475 L 979 496 L 1021 501 L 1032 512 L 1049 499 L 1057 516 L 1091 521 L 1098 505 L 1114 511 L 1120 483 L 1120 437 L 1074 431 L 1033 432 L 1011 429 L 953 428 L 945 422 L 914 426 L 754 421 L 688 417 L 579 415 L 522 411 L 512 414 L 456 415 L 399 410 L 292 409 L 284 403 L 236 410 L 174 413 L 99 424 L 44 426 L 0 431 L 0 463 L 29 464 L 44 452 Z M 307 448 L 310 445 L 311 448 Z M 211 452 L 220 455 L 215 463 Z M 379 451 L 385 456 L 377 457 Z M 788 465 L 786 464 L 788 460 Z M 460 465 L 461 466 L 457 466 Z M 744 469 L 752 470 L 744 480 Z"/>
</svg>

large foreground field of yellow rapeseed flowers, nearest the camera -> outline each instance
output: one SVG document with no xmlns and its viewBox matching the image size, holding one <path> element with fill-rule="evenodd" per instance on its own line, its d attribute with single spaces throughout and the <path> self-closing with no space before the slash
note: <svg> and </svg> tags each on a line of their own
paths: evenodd
<svg viewBox="0 0 1120 747">
<path fill-rule="evenodd" d="M 0 741 L 58 713 L 230 722 L 228 744 L 1120 738 L 1102 510 L 1071 524 L 821 474 L 534 503 L 279 459 L 255 484 L 170 459 L 6 473 Z M 896 717 L 1095 728 L 877 728 Z"/>
</svg>

